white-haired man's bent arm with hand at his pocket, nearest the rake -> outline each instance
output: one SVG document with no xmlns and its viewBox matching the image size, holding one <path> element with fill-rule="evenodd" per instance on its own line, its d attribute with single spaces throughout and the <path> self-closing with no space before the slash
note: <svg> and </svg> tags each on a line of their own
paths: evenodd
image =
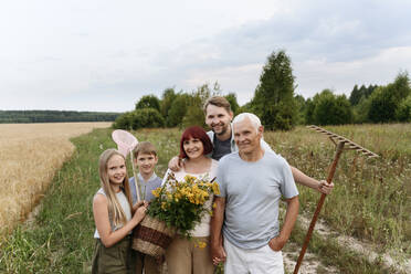
<svg viewBox="0 0 411 274">
<path fill-rule="evenodd" d="M 274 251 L 281 251 L 285 243 L 288 241 L 291 232 L 293 231 L 295 221 L 297 220 L 298 215 L 298 196 L 295 196 L 291 199 L 286 200 L 287 202 L 287 211 L 285 214 L 285 220 L 283 224 L 283 229 L 280 232 L 280 235 L 270 240 L 268 245 Z"/>
</svg>

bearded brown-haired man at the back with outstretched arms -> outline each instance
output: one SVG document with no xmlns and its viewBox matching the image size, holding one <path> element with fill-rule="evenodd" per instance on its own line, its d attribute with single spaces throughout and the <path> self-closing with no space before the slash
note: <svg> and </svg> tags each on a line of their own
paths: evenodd
<svg viewBox="0 0 411 274">
<path fill-rule="evenodd" d="M 238 151 L 239 148 L 235 145 L 231 125 L 234 115 L 231 110 L 230 103 L 222 96 L 213 96 L 205 102 L 203 110 L 205 114 L 205 124 L 211 128 L 211 130 L 207 133 L 213 144 L 213 151 L 210 157 L 219 160 L 224 155 Z M 261 146 L 264 150 L 272 151 L 268 144 L 263 139 L 261 139 Z M 183 164 L 178 157 L 173 157 L 169 162 L 169 168 L 173 171 L 178 171 L 182 165 Z M 318 181 L 306 176 L 295 167 L 291 168 L 294 180 L 303 186 L 326 194 L 334 188 L 333 182 L 328 185 L 325 180 Z"/>
</svg>

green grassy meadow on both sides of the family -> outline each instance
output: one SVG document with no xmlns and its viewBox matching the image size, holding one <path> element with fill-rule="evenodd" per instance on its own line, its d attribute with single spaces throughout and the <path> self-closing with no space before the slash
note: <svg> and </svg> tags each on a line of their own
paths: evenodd
<svg viewBox="0 0 411 274">
<path fill-rule="evenodd" d="M 367 240 L 376 249 L 399 257 L 411 256 L 411 125 L 327 127 L 379 154 L 367 160 L 346 151 L 335 176 L 335 191 L 327 197 L 322 218 L 334 231 Z M 139 140 L 159 148 L 157 173 L 177 155 L 180 131 L 140 130 Z M 288 162 L 315 178 L 325 178 L 334 145 L 322 135 L 298 127 L 291 133 L 266 133 L 265 139 Z M 1 239 L 1 273 L 87 273 L 93 253 L 92 199 L 98 189 L 97 159 L 114 147 L 109 129 L 96 129 L 73 140 L 76 150 L 55 173 L 38 218 Z M 129 170 L 130 171 L 130 170 Z M 299 187 L 302 213 L 308 217 L 319 194 Z M 303 242 L 297 225 L 292 241 Z M 333 239 L 314 235 L 309 251 L 340 273 L 392 273 L 392 270 L 340 246 Z M 320 273 L 320 271 L 318 272 Z"/>
</svg>

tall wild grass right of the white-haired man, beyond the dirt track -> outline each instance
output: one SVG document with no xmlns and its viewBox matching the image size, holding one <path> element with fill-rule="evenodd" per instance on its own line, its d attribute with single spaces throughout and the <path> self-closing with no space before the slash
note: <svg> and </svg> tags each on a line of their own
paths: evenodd
<svg viewBox="0 0 411 274">
<path fill-rule="evenodd" d="M 342 234 L 368 240 L 379 252 L 411 255 L 411 124 L 326 127 L 380 155 L 367 159 L 345 151 L 322 218 Z M 265 139 L 291 165 L 326 178 L 335 146 L 324 135 L 299 127 L 267 133 Z M 318 193 L 299 187 L 303 210 L 312 213 Z"/>
</svg>

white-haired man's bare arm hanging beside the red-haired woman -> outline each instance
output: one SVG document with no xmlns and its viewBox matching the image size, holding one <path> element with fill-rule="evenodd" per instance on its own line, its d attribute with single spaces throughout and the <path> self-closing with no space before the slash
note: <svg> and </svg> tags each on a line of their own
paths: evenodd
<svg viewBox="0 0 411 274">
<path fill-rule="evenodd" d="M 213 264 L 217 265 L 220 262 L 224 262 L 226 256 L 221 241 L 221 229 L 224 221 L 225 198 L 215 197 L 214 203 L 215 208 L 213 210 L 210 223 L 210 253 Z"/>
</svg>

